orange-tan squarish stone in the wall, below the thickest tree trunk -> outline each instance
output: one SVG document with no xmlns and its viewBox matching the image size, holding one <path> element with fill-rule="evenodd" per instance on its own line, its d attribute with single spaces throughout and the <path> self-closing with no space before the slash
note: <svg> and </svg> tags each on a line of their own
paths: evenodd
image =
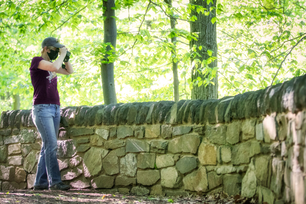
<svg viewBox="0 0 306 204">
<path fill-rule="evenodd" d="M 201 143 L 198 153 L 199 161 L 202 165 L 217 164 L 217 147 L 207 143 Z"/>
</svg>

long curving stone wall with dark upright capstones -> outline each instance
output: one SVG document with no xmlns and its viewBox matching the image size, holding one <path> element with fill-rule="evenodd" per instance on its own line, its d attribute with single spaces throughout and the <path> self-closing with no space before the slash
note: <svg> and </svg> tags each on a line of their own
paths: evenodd
<svg viewBox="0 0 306 204">
<path fill-rule="evenodd" d="M 63 107 L 61 114 L 58 162 L 74 188 L 304 202 L 306 76 L 219 100 Z M 31 110 L 2 112 L 0 190 L 32 188 L 40 144 Z"/>
</svg>

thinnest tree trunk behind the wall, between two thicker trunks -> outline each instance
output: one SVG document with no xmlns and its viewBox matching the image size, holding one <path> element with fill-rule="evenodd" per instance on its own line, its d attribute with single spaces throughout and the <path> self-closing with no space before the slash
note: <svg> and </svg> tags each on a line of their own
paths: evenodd
<svg viewBox="0 0 306 204">
<path fill-rule="evenodd" d="M 165 0 L 165 2 L 168 4 L 168 7 L 172 7 L 172 0 Z M 172 29 L 175 28 L 176 20 L 174 18 L 170 17 L 170 26 Z M 171 38 L 171 43 L 174 44 L 173 50 L 171 50 L 171 58 L 172 58 L 172 72 L 173 72 L 173 95 L 174 95 L 174 101 L 177 102 L 180 100 L 180 94 L 178 92 L 178 86 L 179 86 L 179 80 L 178 80 L 178 74 L 177 74 L 177 62 L 174 62 L 173 58 L 176 56 L 176 36 L 173 36 Z"/>
</svg>

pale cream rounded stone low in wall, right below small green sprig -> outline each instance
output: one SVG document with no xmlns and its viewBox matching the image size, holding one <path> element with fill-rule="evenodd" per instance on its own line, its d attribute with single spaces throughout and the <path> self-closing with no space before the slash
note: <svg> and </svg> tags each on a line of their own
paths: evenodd
<svg viewBox="0 0 306 204">
<path fill-rule="evenodd" d="M 179 176 L 175 167 L 168 167 L 161 170 L 161 185 L 167 188 L 176 188 L 181 182 L 181 177 Z"/>
</svg>

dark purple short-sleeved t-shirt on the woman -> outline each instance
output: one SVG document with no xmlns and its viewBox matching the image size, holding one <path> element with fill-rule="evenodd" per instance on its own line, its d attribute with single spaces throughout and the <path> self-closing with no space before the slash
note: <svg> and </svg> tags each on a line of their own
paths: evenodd
<svg viewBox="0 0 306 204">
<path fill-rule="evenodd" d="M 36 104 L 57 104 L 59 95 L 57 90 L 57 76 L 50 71 L 38 69 L 43 57 L 33 57 L 30 67 L 31 81 L 34 87 L 33 105 Z"/>
</svg>

